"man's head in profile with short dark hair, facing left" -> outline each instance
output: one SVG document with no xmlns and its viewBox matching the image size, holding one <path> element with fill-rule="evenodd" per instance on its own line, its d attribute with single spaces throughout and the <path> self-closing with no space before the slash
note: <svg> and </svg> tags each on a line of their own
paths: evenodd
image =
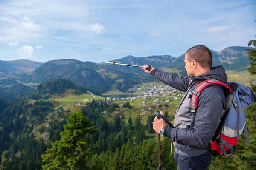
<svg viewBox="0 0 256 170">
<path fill-rule="evenodd" d="M 212 53 L 206 46 L 196 45 L 188 49 L 184 62 L 188 76 L 199 76 L 211 70 Z"/>
</svg>

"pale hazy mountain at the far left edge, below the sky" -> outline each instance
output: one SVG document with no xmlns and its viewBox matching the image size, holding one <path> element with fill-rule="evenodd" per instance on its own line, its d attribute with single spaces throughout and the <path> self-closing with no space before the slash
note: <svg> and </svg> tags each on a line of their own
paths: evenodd
<svg viewBox="0 0 256 170">
<path fill-rule="evenodd" d="M 2 79 L 20 79 L 31 74 L 36 68 L 40 67 L 42 62 L 35 62 L 27 59 L 2 61 L 0 60 L 0 80 Z"/>
</svg>

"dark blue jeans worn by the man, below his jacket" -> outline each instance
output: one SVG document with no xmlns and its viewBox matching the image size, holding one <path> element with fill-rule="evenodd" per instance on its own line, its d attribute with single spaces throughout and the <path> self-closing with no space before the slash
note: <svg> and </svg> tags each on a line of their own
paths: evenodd
<svg viewBox="0 0 256 170">
<path fill-rule="evenodd" d="M 207 170 L 212 161 L 212 153 L 208 150 L 206 153 L 193 157 L 174 153 L 174 159 L 178 167 L 177 170 Z"/>
</svg>

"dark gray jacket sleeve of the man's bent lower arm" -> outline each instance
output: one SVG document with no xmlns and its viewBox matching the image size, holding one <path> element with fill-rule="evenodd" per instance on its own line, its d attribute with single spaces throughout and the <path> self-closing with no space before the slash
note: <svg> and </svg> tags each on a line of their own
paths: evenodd
<svg viewBox="0 0 256 170">
<path fill-rule="evenodd" d="M 206 89 L 198 98 L 195 126 L 192 129 L 165 127 L 164 136 L 179 144 L 207 147 L 217 129 L 218 120 L 225 105 L 225 96 L 220 86 L 211 86 Z"/>
</svg>

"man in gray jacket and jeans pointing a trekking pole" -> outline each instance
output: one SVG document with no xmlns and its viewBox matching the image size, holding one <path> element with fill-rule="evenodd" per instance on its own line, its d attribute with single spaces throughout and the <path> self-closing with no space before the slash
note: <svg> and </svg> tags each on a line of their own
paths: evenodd
<svg viewBox="0 0 256 170">
<path fill-rule="evenodd" d="M 156 117 L 153 129 L 162 136 L 172 139 L 178 170 L 207 170 L 212 160 L 209 143 L 224 110 L 224 91 L 218 85 L 211 85 L 201 92 L 192 129 L 190 97 L 200 82 L 206 79 L 226 82 L 227 75 L 222 66 L 212 68 L 212 53 L 204 45 L 190 48 L 186 52 L 184 62 L 188 78 L 175 77 L 152 66 L 150 71 L 147 71 L 147 65 L 142 67 L 146 73 L 151 73 L 166 85 L 186 92 L 175 113 L 175 128 L 166 127 L 164 120 L 158 120 Z"/>
</svg>

